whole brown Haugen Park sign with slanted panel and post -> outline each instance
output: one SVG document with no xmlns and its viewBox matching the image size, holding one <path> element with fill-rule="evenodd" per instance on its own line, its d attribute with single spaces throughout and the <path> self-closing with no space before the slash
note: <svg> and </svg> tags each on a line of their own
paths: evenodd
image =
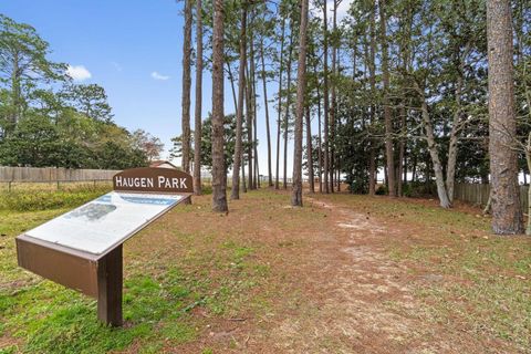
<svg viewBox="0 0 531 354">
<path fill-rule="evenodd" d="M 133 168 L 113 177 L 113 191 L 17 237 L 19 266 L 97 299 L 98 319 L 122 325 L 122 244 L 188 199 L 190 175 Z"/>
</svg>

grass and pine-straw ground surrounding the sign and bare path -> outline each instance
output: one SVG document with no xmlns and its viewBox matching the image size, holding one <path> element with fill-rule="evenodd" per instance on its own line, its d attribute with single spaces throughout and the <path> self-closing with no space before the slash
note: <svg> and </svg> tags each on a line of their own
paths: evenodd
<svg viewBox="0 0 531 354">
<path fill-rule="evenodd" d="M 315 250 L 333 246 L 324 237 L 335 235 L 340 222 L 321 201 L 393 230 L 374 242 L 407 269 L 417 306 L 391 299 L 386 311 L 444 329 L 448 341 L 477 336 L 478 353 L 486 352 L 482 336 L 494 350 L 531 347 L 530 238 L 489 235 L 488 218 L 472 208 L 446 211 L 435 201 L 334 195 L 292 209 L 287 194 L 270 190 L 242 195 L 229 215 L 210 212 L 210 196 L 196 197 L 127 241 L 125 325 L 105 327 L 93 299 L 17 267 L 14 237 L 92 198 L 83 192 L 60 208 L 0 210 L 0 353 L 274 353 L 287 339 L 294 352 L 348 352 L 354 346 L 333 336 L 279 325 L 333 319 L 315 316 L 327 295 L 313 283 L 321 281 L 319 269 L 310 272 L 320 266 Z M 311 346 L 300 344 L 305 340 Z"/>
</svg>

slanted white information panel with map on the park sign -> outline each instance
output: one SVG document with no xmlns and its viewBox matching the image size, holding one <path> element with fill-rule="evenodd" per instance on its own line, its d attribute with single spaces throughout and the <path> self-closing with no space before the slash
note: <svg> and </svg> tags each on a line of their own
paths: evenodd
<svg viewBox="0 0 531 354">
<path fill-rule="evenodd" d="M 25 235 L 93 254 L 122 243 L 184 196 L 111 191 Z"/>
</svg>

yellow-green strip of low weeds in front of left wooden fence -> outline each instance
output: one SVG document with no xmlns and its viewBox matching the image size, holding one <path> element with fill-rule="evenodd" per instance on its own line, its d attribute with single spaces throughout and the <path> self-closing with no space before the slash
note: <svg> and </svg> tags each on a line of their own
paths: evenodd
<svg viewBox="0 0 531 354">
<path fill-rule="evenodd" d="M 33 211 L 76 207 L 110 190 L 110 187 L 83 187 L 73 190 L 14 190 L 0 192 L 0 209 Z"/>
</svg>

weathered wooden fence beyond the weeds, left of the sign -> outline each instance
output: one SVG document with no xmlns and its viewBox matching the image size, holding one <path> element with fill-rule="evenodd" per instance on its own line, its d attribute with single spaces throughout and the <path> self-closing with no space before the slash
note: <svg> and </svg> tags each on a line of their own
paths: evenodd
<svg viewBox="0 0 531 354">
<path fill-rule="evenodd" d="M 111 180 L 119 170 L 70 169 L 62 167 L 6 167 L 0 166 L 0 183 L 54 183 Z"/>
</svg>

